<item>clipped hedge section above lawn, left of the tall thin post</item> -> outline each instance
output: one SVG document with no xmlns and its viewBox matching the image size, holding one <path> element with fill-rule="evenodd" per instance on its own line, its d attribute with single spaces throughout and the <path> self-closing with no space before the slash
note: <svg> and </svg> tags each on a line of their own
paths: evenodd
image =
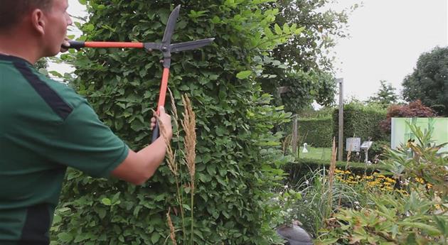
<svg viewBox="0 0 448 245">
<path fill-rule="evenodd" d="M 333 119 L 331 116 L 316 119 L 299 119 L 298 131 L 301 143 L 313 147 L 331 147 Z"/>
</svg>

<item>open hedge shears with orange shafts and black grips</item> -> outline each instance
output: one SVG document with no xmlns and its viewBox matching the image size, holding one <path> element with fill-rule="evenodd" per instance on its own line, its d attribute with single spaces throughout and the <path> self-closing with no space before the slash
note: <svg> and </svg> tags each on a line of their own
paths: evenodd
<svg viewBox="0 0 448 245">
<path fill-rule="evenodd" d="M 179 10 L 181 6 L 178 5 L 171 12 L 168 22 L 166 23 L 164 38 L 161 43 L 136 43 L 136 42 L 84 42 L 84 41 L 74 41 L 70 40 L 70 47 L 64 48 L 144 48 L 146 50 L 160 50 L 164 55 L 163 65 L 164 72 L 162 73 L 159 102 L 157 104 L 156 114 L 159 115 L 159 107 L 164 107 L 166 89 L 168 87 L 168 77 L 169 77 L 169 67 L 171 65 L 171 52 L 180 52 L 184 50 L 192 50 L 196 48 L 201 48 L 205 45 L 213 42 L 215 38 L 206 38 L 201 40 L 193 40 L 185 43 L 174 43 L 171 44 L 171 36 L 174 33 L 174 27 L 176 26 L 176 20 L 179 15 Z M 152 133 L 152 142 L 159 138 L 159 124 L 157 123 L 154 131 Z"/>
</svg>

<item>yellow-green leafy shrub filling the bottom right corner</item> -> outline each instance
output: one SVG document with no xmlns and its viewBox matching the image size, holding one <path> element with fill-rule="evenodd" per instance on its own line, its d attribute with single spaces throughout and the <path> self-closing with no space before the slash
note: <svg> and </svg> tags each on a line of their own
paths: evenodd
<svg viewBox="0 0 448 245">
<path fill-rule="evenodd" d="M 402 190 L 370 193 L 373 202 L 360 210 L 339 209 L 316 244 L 448 244 L 448 160 L 430 131 L 410 127 L 418 142 L 390 149 L 381 161 Z"/>
</svg>

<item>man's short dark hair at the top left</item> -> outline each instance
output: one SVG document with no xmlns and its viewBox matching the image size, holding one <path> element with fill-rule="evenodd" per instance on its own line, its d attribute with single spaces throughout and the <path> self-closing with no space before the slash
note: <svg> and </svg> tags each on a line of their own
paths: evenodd
<svg viewBox="0 0 448 245">
<path fill-rule="evenodd" d="M 53 0 L 0 0 L 0 31 L 9 31 L 34 9 L 46 10 Z"/>
</svg>

